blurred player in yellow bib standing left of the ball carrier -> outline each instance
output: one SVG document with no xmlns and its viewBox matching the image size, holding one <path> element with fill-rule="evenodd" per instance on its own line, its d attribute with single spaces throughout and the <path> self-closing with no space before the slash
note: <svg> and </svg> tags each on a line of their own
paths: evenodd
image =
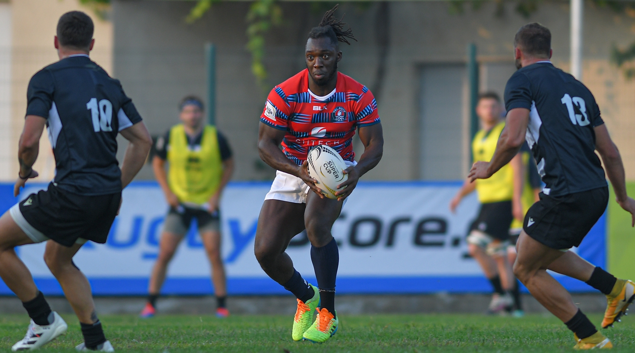
<svg viewBox="0 0 635 353">
<path fill-rule="evenodd" d="M 201 99 L 188 96 L 180 103 L 180 124 L 156 142 L 152 168 L 170 210 L 159 241 L 159 256 L 152 268 L 148 302 L 142 317 L 152 317 L 166 277 L 168 263 L 196 219 L 211 264 L 211 282 L 217 298 L 216 314 L 229 316 L 225 306 L 227 281 L 220 254 L 220 196 L 234 171 L 232 151 L 215 126 L 205 123 Z M 168 173 L 165 164 L 168 162 Z"/>
</svg>

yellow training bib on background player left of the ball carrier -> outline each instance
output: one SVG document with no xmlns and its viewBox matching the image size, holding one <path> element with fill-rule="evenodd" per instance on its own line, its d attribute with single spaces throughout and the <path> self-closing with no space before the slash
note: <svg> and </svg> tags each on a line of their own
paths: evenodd
<svg viewBox="0 0 635 353">
<path fill-rule="evenodd" d="M 201 148 L 192 150 L 182 124 L 170 129 L 168 185 L 179 201 L 204 204 L 217 192 L 223 163 L 214 126 L 205 126 Z"/>
</svg>

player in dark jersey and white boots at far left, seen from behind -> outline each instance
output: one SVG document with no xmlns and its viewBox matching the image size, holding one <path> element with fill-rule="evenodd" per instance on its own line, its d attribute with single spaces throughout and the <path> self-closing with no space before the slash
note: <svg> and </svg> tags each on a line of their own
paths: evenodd
<svg viewBox="0 0 635 353">
<path fill-rule="evenodd" d="M 72 258 L 89 240 L 106 242 L 119 213 L 121 190 L 144 165 L 152 138 L 119 81 L 90 60 L 94 28 L 83 12 L 62 15 L 54 40 L 60 60 L 39 70 L 27 89 L 15 196 L 37 176 L 32 166 L 44 125 L 55 155 L 55 179 L 0 218 L 0 276 L 31 318 L 27 334 L 11 347 L 14 351 L 37 349 L 67 330 L 15 251 L 18 245 L 48 241 L 44 262 L 62 286 L 84 336 L 76 349 L 114 352 L 97 317 L 90 283 Z M 119 133 L 130 142 L 121 169 Z"/>
</svg>

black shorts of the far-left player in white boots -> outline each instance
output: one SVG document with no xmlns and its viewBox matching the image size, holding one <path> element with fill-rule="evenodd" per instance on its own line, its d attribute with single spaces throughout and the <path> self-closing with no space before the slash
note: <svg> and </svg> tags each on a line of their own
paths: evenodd
<svg viewBox="0 0 635 353">
<path fill-rule="evenodd" d="M 119 210 L 119 201 L 121 192 L 84 196 L 50 183 L 47 190 L 30 194 L 10 212 L 36 243 L 48 237 L 64 246 L 72 246 L 78 238 L 104 244 Z"/>
</svg>

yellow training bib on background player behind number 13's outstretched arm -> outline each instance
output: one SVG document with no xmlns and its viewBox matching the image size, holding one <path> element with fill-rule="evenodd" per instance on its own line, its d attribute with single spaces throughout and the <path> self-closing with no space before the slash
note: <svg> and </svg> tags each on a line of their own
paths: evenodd
<svg viewBox="0 0 635 353">
<path fill-rule="evenodd" d="M 490 131 L 480 130 L 472 141 L 472 156 L 474 162 L 489 162 L 496 150 L 496 143 L 501 131 L 505 127 L 502 121 L 491 128 Z M 512 167 L 505 164 L 488 179 L 476 179 L 476 193 L 481 203 L 496 203 L 499 201 L 511 201 L 514 195 L 514 180 Z"/>
</svg>

